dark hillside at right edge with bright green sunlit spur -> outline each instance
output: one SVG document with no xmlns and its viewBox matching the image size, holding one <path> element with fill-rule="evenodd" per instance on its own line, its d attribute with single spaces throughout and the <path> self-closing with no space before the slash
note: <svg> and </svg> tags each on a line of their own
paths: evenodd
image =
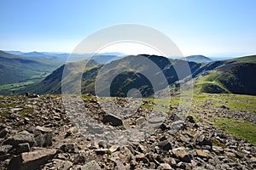
<svg viewBox="0 0 256 170">
<path fill-rule="evenodd" d="M 213 67 L 212 67 L 213 65 Z M 212 62 L 201 67 L 195 87 L 212 94 L 256 94 L 256 56 Z"/>
</svg>

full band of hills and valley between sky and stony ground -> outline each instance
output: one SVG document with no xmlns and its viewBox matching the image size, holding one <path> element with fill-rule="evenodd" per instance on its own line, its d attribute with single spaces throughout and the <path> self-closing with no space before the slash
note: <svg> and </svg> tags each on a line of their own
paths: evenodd
<svg viewBox="0 0 256 170">
<path fill-rule="evenodd" d="M 88 57 L 90 56 L 90 54 L 73 54 L 73 59 L 69 59 L 69 61 L 75 62 L 66 63 L 67 54 L 12 53 L 19 55 L 0 51 L 0 76 L 2 77 L 0 79 L 0 94 L 22 94 L 24 92 L 61 94 L 62 72 L 65 67 L 72 65 L 72 67 L 68 67 L 72 68 L 69 70 L 72 78 L 66 81 L 70 82 L 70 87 L 73 87 L 77 83 L 73 81 L 74 77 L 79 77 L 79 72 L 76 68 L 79 68 L 79 65 L 84 65 L 86 60 L 82 59 L 89 59 Z M 152 67 L 142 61 L 139 62 L 143 58 L 151 60 L 155 65 L 158 65 L 160 70 L 154 72 Z M 97 90 L 101 89 L 99 93 L 102 95 L 107 95 L 110 90 L 112 96 L 126 96 L 132 88 L 137 88 L 143 97 L 150 97 L 155 93 L 155 90 L 165 90 L 167 86 L 177 88 L 176 91 L 178 91 L 179 82 L 189 81 L 189 79 L 187 80 L 189 74 L 177 75 L 175 68 L 185 68 L 185 65 L 189 65 L 191 76 L 195 82 L 195 90 L 205 93 L 256 94 L 254 78 L 256 77 L 255 55 L 213 61 L 202 55 L 193 55 L 182 59 L 168 59 L 148 54 L 137 56 L 96 54 L 87 64 L 90 66 L 88 67 L 87 65 L 87 68 L 80 73 L 82 77 L 81 90 L 84 94 L 95 94 L 96 78 L 102 80 L 100 87 L 97 87 Z M 137 68 L 140 72 L 127 71 L 125 70 L 127 67 Z M 99 72 L 102 68 L 106 72 L 99 77 Z M 50 72 L 51 74 L 49 74 Z M 142 74 L 143 72 L 151 73 L 152 77 L 160 77 L 160 73 L 163 73 L 167 84 L 159 81 L 152 85 L 148 78 Z M 108 79 L 114 74 L 117 74 L 117 77 L 109 84 Z M 11 85 L 11 83 L 26 81 L 32 82 L 24 87 L 20 86 L 20 88 L 14 88 Z M 3 85 L 7 83 L 10 83 L 11 86 Z"/>
</svg>

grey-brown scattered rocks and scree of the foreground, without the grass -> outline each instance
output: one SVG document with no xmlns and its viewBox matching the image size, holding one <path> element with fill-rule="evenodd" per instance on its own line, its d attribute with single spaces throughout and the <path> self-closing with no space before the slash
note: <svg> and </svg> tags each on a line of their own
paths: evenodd
<svg viewBox="0 0 256 170">
<path fill-rule="evenodd" d="M 136 127 L 150 112 L 139 107 L 134 116 L 121 119 L 104 113 L 96 98 L 84 99 L 84 105 L 99 125 L 116 129 Z M 255 169 L 256 146 L 207 121 L 209 116 L 236 116 L 255 123 L 255 116 L 210 106 L 200 113 L 196 107 L 196 117 L 184 119 L 171 107 L 148 139 L 119 145 L 83 135 L 67 116 L 61 96 L 1 96 L 0 169 Z"/>
</svg>

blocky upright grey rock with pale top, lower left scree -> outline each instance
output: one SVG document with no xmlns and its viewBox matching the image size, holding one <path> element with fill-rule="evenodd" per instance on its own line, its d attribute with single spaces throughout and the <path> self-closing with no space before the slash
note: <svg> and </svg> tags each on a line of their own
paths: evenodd
<svg viewBox="0 0 256 170">
<path fill-rule="evenodd" d="M 52 144 L 53 133 L 49 127 L 36 127 L 34 129 L 34 139 L 39 147 L 46 147 Z"/>
</svg>

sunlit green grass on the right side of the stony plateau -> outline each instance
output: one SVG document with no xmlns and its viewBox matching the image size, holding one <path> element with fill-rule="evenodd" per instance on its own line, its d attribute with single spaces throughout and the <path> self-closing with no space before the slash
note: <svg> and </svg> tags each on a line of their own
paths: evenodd
<svg viewBox="0 0 256 170">
<path fill-rule="evenodd" d="M 203 111 L 218 111 L 220 107 L 229 108 L 230 111 L 244 111 L 247 114 L 256 114 L 256 96 L 241 95 L 241 94 L 194 94 L 191 98 L 184 95 L 177 95 L 169 99 L 148 99 L 160 105 L 170 105 L 172 107 L 179 107 L 183 105 L 191 105 L 187 115 L 194 116 L 198 119 L 197 114 Z M 207 107 L 205 106 L 205 104 Z M 156 108 L 158 109 L 158 108 Z M 167 110 L 166 110 L 167 111 Z M 256 125 L 251 122 L 244 122 L 236 120 L 235 118 L 224 117 L 208 117 L 209 122 L 219 128 L 224 129 L 224 133 L 230 133 L 237 138 L 247 139 L 248 142 L 256 144 Z"/>
</svg>

